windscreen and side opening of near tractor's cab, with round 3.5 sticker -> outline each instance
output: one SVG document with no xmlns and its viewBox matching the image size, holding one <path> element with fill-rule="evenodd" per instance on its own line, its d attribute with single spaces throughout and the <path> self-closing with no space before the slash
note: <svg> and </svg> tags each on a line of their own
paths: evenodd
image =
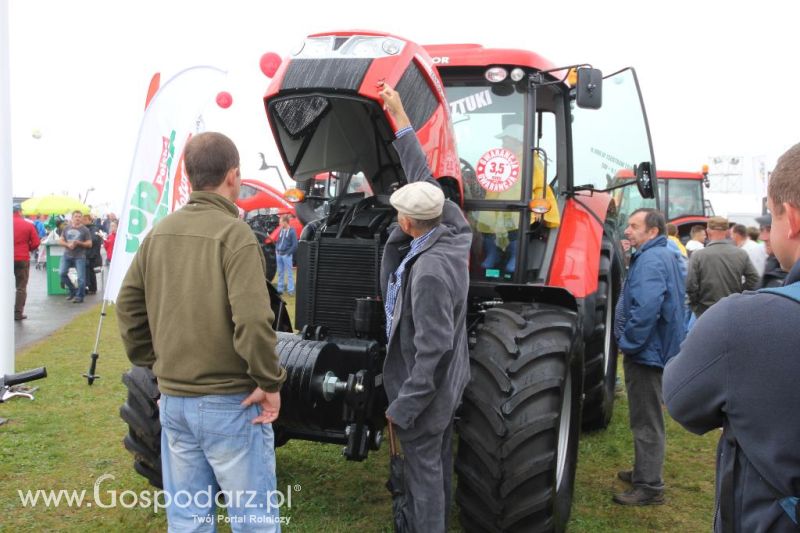
<svg viewBox="0 0 800 533">
<path fill-rule="evenodd" d="M 482 74 L 472 79 L 444 75 L 464 209 L 474 234 L 470 273 L 479 285 L 533 282 L 540 277 L 550 230 L 559 225 L 554 177 L 556 123 L 563 113 L 534 112 L 535 98 L 526 83 L 489 83 Z M 531 198 L 543 199 L 545 191 L 550 210 L 536 215 Z"/>
</svg>

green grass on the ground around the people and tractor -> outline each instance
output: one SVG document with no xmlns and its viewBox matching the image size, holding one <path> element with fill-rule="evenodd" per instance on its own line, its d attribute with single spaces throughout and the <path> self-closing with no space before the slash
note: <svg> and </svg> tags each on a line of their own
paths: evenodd
<svg viewBox="0 0 800 533">
<path fill-rule="evenodd" d="M 290 307 L 293 307 L 290 302 Z M 292 313 L 293 314 L 293 313 Z M 107 491 L 141 493 L 150 487 L 133 471 L 122 447 L 127 426 L 118 410 L 126 391 L 120 380 L 129 363 L 110 307 L 103 325 L 98 373 L 91 387 L 81 376 L 89 366 L 99 306 L 42 342 L 17 354 L 16 368 L 47 366 L 36 400 L 0 404 L 0 531 L 164 531 L 164 513 L 140 507 L 24 509 L 18 490 L 85 490 L 91 500 L 96 480 L 101 502 Z M 611 502 L 623 488 L 616 471 L 630 466 L 632 444 L 624 394 L 604 432 L 581 438 L 571 531 L 702 531 L 711 527 L 714 450 L 718 435 L 696 437 L 669 421 L 665 481 L 668 503 L 626 508 Z M 278 485 L 292 488 L 291 517 L 284 531 L 391 531 L 391 502 L 384 487 L 388 453 L 384 446 L 367 461 L 353 463 L 335 445 L 292 441 L 277 450 Z M 298 487 L 299 486 L 299 487 Z M 299 488 L 299 492 L 296 490 Z M 132 496 L 126 495 L 128 502 Z M 457 521 L 454 531 L 457 531 Z"/>
</svg>

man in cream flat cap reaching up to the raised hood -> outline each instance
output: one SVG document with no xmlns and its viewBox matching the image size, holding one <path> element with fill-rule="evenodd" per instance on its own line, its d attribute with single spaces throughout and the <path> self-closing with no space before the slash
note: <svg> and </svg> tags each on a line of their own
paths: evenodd
<svg viewBox="0 0 800 533">
<path fill-rule="evenodd" d="M 472 243 L 461 210 L 431 176 L 425 154 L 388 85 L 380 91 L 397 126 L 394 147 L 408 185 L 392 194 L 398 227 L 384 248 L 386 416 L 405 455 L 414 531 L 447 531 L 453 416 L 469 381 L 466 312 Z"/>
</svg>

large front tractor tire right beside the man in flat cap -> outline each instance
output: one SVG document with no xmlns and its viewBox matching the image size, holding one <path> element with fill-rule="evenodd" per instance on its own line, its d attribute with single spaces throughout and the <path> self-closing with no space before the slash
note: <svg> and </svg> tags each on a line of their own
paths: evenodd
<svg viewBox="0 0 800 533">
<path fill-rule="evenodd" d="M 461 525 L 563 531 L 577 463 L 583 383 L 577 314 L 545 304 L 486 312 L 458 422 Z"/>
</svg>

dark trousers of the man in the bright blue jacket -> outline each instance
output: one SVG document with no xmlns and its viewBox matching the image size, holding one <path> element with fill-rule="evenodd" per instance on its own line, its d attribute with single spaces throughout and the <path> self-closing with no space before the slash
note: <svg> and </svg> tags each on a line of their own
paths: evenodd
<svg viewBox="0 0 800 533">
<path fill-rule="evenodd" d="M 663 369 L 634 363 L 627 356 L 625 388 L 628 391 L 628 412 L 633 433 L 633 484 L 663 489 L 666 432 L 661 410 L 661 378 Z"/>
</svg>

